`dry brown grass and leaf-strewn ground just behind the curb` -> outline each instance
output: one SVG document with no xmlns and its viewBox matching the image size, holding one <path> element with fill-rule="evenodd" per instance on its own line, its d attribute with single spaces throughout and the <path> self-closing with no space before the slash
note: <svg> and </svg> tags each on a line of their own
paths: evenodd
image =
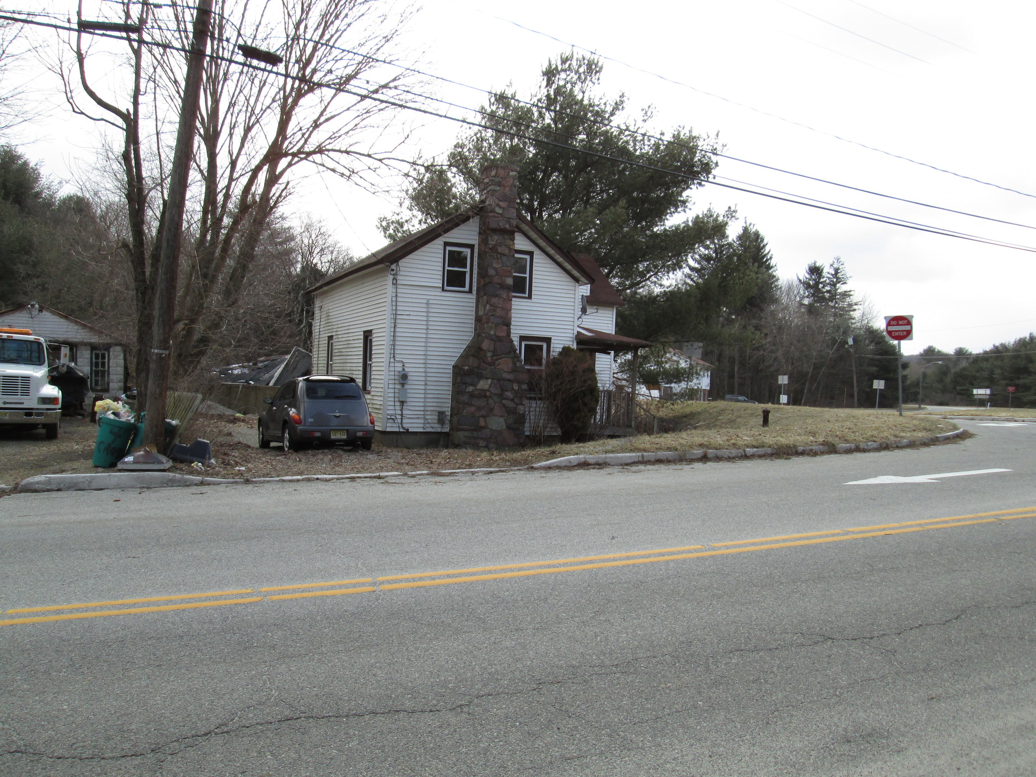
<svg viewBox="0 0 1036 777">
<path fill-rule="evenodd" d="M 761 426 L 764 407 L 771 410 L 770 426 L 766 429 Z M 497 452 L 458 449 L 407 451 L 376 445 L 369 452 L 335 448 L 285 454 L 277 444 L 268 450 L 256 447 L 254 415 L 199 415 L 184 430 L 181 440 L 190 441 L 195 437 L 208 439 L 218 465 L 199 471 L 186 464 L 176 464 L 171 471 L 213 478 L 440 471 L 522 466 L 575 454 L 730 448 L 790 451 L 799 445 L 917 439 L 956 428 L 950 421 L 918 413 L 900 419 L 888 410 L 837 410 L 732 402 L 658 403 L 654 409 L 660 415 L 674 419 L 680 431 Z M 9 486 L 23 478 L 48 472 L 98 471 L 90 463 L 96 427 L 88 422 L 73 420 L 66 420 L 63 427 L 62 436 L 57 440 L 44 440 L 42 432 L 37 432 L 8 437 L 0 442 L 0 484 Z"/>
</svg>

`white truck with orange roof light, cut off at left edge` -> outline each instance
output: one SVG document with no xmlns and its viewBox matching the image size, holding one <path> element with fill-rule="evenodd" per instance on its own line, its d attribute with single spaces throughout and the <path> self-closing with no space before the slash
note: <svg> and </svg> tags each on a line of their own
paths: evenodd
<svg viewBox="0 0 1036 777">
<path fill-rule="evenodd" d="M 47 342 L 32 329 L 0 327 L 0 427 L 47 430 L 57 439 L 61 392 L 48 379 Z"/>
</svg>

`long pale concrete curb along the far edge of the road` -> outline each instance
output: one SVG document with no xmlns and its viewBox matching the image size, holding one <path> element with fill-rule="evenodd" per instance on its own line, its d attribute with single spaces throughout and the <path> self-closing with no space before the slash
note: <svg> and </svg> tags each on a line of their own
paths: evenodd
<svg viewBox="0 0 1036 777">
<path fill-rule="evenodd" d="M 795 453 L 775 448 L 726 449 L 716 451 L 674 451 L 639 454 L 598 454 L 593 456 L 565 456 L 560 459 L 542 461 L 539 464 L 521 467 L 477 467 L 473 469 L 422 469 L 415 472 L 358 472 L 355 474 L 289 474 L 283 478 L 200 478 L 175 472 L 90 472 L 85 474 L 36 474 L 26 478 L 13 489 L 16 492 L 42 493 L 45 491 L 100 491 L 109 488 L 172 488 L 175 486 L 226 486 L 249 483 L 300 483 L 303 481 L 355 481 L 383 478 L 413 478 L 416 476 L 442 474 L 491 474 L 516 469 L 555 469 L 558 467 L 597 464 L 621 466 L 642 464 L 652 461 L 696 461 L 718 459 L 758 458 L 761 456 L 809 456 L 831 453 L 853 453 L 854 451 L 876 451 L 883 448 L 909 448 L 910 445 L 930 445 L 963 434 L 963 429 L 937 434 L 921 439 L 897 439 L 892 442 L 848 442 L 839 445 L 805 445 Z"/>
</svg>

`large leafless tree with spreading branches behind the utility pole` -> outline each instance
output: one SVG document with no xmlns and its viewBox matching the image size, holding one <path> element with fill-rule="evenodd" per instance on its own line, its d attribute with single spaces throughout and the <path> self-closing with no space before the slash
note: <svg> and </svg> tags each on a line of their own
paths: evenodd
<svg viewBox="0 0 1036 777">
<path fill-rule="evenodd" d="M 181 15 L 191 6 L 167 6 L 172 17 L 159 18 L 165 11 L 148 3 L 114 5 L 119 22 L 140 30 L 126 32 L 121 49 L 79 33 L 68 40 L 71 60 L 53 67 L 71 110 L 112 130 L 111 162 L 126 208 L 121 250 L 133 270 L 137 342 L 145 344 L 170 131 L 190 35 Z M 375 186 L 385 166 L 397 162 L 393 154 L 405 135 L 392 118 L 413 97 L 398 89 L 404 70 L 388 63 L 407 16 L 378 0 L 217 3 L 185 223 L 190 244 L 181 256 L 178 372 L 201 364 L 239 310 L 263 236 L 307 165 L 310 173 Z M 253 58 L 243 61 L 241 51 Z M 257 51 L 268 62 L 257 61 Z M 277 57 L 283 64 L 274 64 Z M 113 60 L 120 77 L 102 77 Z M 143 351 L 138 348 L 138 382 L 146 377 Z"/>
</svg>

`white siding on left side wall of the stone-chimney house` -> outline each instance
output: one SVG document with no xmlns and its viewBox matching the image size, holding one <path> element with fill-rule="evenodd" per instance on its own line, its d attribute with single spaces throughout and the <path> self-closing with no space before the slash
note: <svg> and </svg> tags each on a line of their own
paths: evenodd
<svg viewBox="0 0 1036 777">
<path fill-rule="evenodd" d="M 371 393 L 367 405 L 375 427 L 384 431 L 385 308 L 388 268 L 372 267 L 314 294 L 313 364 L 327 364 L 327 343 L 333 342 L 334 367 L 338 375 L 351 375 L 358 382 L 364 374 L 364 332 L 373 333 L 374 359 Z M 334 338 L 334 340 L 329 340 Z"/>
</svg>

